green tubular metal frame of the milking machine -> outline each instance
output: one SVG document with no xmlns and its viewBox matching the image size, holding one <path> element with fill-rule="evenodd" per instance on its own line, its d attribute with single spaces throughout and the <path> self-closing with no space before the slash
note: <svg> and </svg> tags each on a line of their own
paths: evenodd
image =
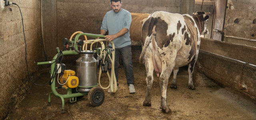
<svg viewBox="0 0 256 120">
<path fill-rule="evenodd" d="M 76 44 L 76 41 L 78 40 L 78 38 L 80 36 L 83 36 L 83 35 L 86 35 L 88 37 L 92 37 L 92 38 L 98 38 L 98 37 L 101 37 L 101 38 L 104 38 L 104 35 L 98 35 L 98 34 L 88 34 L 88 33 L 80 33 L 80 34 L 77 34 L 76 37 L 75 37 L 75 40 L 74 42 L 72 41 L 72 44 L 74 45 L 74 48 L 76 48 L 76 50 L 78 50 L 78 45 Z M 57 52 L 59 53 L 60 52 L 60 49 L 57 47 Z M 54 63 L 54 64 L 51 64 L 51 75 L 53 75 L 55 73 L 54 71 L 54 68 L 56 66 L 56 60 L 58 60 L 57 56 L 58 56 L 58 53 L 53 57 L 52 61 L 48 61 L 48 62 L 38 62 L 37 65 L 42 65 L 42 64 L 51 64 L 51 63 Z M 67 50 L 67 51 L 63 51 L 62 52 L 63 55 L 74 55 L 74 54 L 79 54 L 77 53 L 75 50 L 72 50 L 70 48 L 70 50 Z M 64 113 L 65 110 L 64 110 L 64 99 L 65 98 L 70 98 L 70 102 L 71 102 L 71 99 L 75 101 L 73 102 L 76 102 L 76 97 L 79 97 L 79 96 L 85 96 L 88 94 L 88 92 L 77 92 L 77 93 L 72 93 L 72 89 L 71 88 L 67 88 L 67 94 L 59 94 L 57 91 L 56 91 L 56 87 L 55 87 L 55 77 L 51 80 L 52 84 L 51 84 L 51 89 L 52 89 L 52 92 L 50 92 L 49 94 L 49 97 L 48 97 L 48 105 L 51 104 L 51 95 L 54 94 L 56 97 L 60 98 L 61 101 L 62 101 L 62 110 L 61 112 Z M 98 86 L 98 84 L 96 85 Z M 87 88 L 90 88 L 90 87 L 95 87 L 95 86 L 86 86 Z"/>
</svg>

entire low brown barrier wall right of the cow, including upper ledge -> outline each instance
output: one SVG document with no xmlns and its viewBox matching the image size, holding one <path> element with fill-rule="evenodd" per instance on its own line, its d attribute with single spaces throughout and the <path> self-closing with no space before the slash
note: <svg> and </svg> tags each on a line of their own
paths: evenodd
<svg viewBox="0 0 256 120">
<path fill-rule="evenodd" d="M 201 76 L 256 97 L 256 47 L 201 38 L 193 80 Z"/>
</svg>

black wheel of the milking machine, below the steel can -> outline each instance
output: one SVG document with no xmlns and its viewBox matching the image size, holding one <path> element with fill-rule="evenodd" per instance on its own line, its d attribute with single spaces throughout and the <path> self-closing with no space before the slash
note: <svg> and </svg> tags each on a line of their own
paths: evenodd
<svg viewBox="0 0 256 120">
<path fill-rule="evenodd" d="M 104 90 L 100 87 L 93 87 L 88 93 L 88 100 L 92 106 L 100 106 L 105 98 Z"/>
</svg>

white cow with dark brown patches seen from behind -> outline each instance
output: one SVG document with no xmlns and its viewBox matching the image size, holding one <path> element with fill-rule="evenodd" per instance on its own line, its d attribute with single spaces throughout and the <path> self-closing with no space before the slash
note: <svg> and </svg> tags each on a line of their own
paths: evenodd
<svg viewBox="0 0 256 120">
<path fill-rule="evenodd" d="M 151 106 L 150 90 L 153 72 L 159 77 L 162 112 L 171 112 L 167 105 L 166 90 L 168 79 L 174 72 L 171 88 L 177 88 L 176 76 L 179 67 L 188 65 L 188 88 L 195 90 L 192 73 L 198 58 L 200 35 L 208 34 L 206 24 L 210 12 L 172 14 L 154 12 L 142 25 L 142 53 L 140 63 L 146 67 L 147 92 L 143 106 Z"/>
</svg>

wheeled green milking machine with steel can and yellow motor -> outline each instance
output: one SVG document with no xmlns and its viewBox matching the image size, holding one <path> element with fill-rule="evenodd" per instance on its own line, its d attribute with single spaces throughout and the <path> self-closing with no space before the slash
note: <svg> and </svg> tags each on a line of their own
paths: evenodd
<svg viewBox="0 0 256 120">
<path fill-rule="evenodd" d="M 73 36 L 76 34 L 75 38 Z M 78 40 L 80 36 L 84 36 L 85 40 Z M 111 41 L 113 48 L 105 48 L 104 42 L 106 39 L 96 39 L 87 40 L 87 36 L 91 38 L 104 38 L 103 35 L 98 34 L 88 34 L 83 32 L 75 32 L 72 34 L 70 39 L 63 39 L 64 51 L 60 50 L 58 47 L 57 52 L 52 59 L 48 62 L 38 62 L 38 65 L 51 64 L 51 80 L 50 85 L 52 92 L 48 96 L 48 105 L 51 105 L 51 95 L 54 94 L 56 97 L 62 100 L 62 110 L 64 113 L 64 99 L 70 98 L 70 102 L 76 102 L 78 97 L 88 95 L 88 100 L 93 106 L 100 106 L 105 98 L 104 90 L 110 87 L 112 92 L 116 92 L 116 76 L 114 74 L 114 60 L 115 47 L 114 43 Z M 100 48 L 94 48 L 92 50 L 92 45 L 94 43 L 100 43 Z M 90 50 L 87 50 L 87 45 L 90 44 Z M 80 48 L 78 50 L 78 47 Z M 69 48 L 69 50 L 67 50 Z M 94 54 L 97 54 L 97 59 L 94 58 Z M 64 55 L 75 55 L 80 54 L 80 58 L 76 60 L 76 71 L 66 70 L 65 64 L 61 63 Z M 98 66 L 100 66 L 98 82 L 97 73 Z M 108 73 L 110 70 L 110 74 Z M 106 73 L 110 80 L 108 87 L 103 88 L 100 84 L 100 76 L 102 73 Z M 56 75 L 58 74 L 57 81 L 61 87 L 56 87 Z M 61 75 L 59 77 L 59 74 Z M 63 88 L 67 90 L 67 94 L 59 94 L 56 89 Z"/>
</svg>

